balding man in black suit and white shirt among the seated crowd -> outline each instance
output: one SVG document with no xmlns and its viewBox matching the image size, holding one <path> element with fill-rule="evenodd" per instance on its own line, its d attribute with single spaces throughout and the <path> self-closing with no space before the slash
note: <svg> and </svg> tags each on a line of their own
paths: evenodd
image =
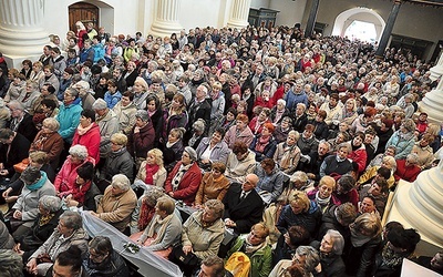
<svg viewBox="0 0 443 277">
<path fill-rule="evenodd" d="M 254 224 L 260 222 L 264 204 L 255 189 L 258 184 L 256 174 L 246 175 L 243 184 L 233 184 L 225 195 L 225 225 L 237 234 L 250 230 Z"/>
</svg>

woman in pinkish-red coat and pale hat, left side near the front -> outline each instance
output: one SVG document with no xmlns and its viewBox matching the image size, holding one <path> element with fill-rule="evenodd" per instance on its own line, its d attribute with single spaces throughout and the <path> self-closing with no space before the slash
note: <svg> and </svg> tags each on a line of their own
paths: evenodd
<svg viewBox="0 0 443 277">
<path fill-rule="evenodd" d="M 94 160 L 87 155 L 87 150 L 83 145 L 74 145 L 69 150 L 70 155 L 64 161 L 59 174 L 55 176 L 54 187 L 60 197 L 69 195 L 78 177 L 76 168 L 85 162 L 94 163 Z"/>
</svg>

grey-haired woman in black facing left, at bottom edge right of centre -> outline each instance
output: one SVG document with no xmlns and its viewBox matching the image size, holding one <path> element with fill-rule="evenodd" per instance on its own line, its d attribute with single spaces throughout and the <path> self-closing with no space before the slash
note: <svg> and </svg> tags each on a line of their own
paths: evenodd
<svg viewBox="0 0 443 277">
<path fill-rule="evenodd" d="M 329 229 L 321 242 L 313 242 L 312 246 L 320 253 L 320 264 L 316 267 L 319 276 L 346 276 L 346 267 L 341 258 L 344 238 L 338 230 Z"/>
</svg>

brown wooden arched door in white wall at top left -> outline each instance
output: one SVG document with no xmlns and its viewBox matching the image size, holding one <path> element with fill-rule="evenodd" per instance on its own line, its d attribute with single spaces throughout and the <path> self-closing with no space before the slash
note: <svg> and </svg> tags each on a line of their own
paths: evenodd
<svg viewBox="0 0 443 277">
<path fill-rule="evenodd" d="M 91 3 L 78 2 L 69 7 L 70 30 L 76 31 L 75 22 L 82 21 L 84 25 L 89 22 L 94 23 L 94 29 L 99 30 L 99 8 Z"/>
</svg>

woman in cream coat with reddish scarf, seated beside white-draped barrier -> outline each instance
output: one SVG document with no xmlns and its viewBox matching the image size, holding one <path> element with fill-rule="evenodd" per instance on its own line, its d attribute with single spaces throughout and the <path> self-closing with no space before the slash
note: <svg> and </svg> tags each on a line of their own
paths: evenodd
<svg viewBox="0 0 443 277">
<path fill-rule="evenodd" d="M 182 222 L 174 209 L 175 203 L 171 197 L 159 197 L 155 205 L 154 218 L 143 234 L 134 234 L 131 239 L 167 258 L 172 247 L 179 242 L 182 235 Z"/>
</svg>

